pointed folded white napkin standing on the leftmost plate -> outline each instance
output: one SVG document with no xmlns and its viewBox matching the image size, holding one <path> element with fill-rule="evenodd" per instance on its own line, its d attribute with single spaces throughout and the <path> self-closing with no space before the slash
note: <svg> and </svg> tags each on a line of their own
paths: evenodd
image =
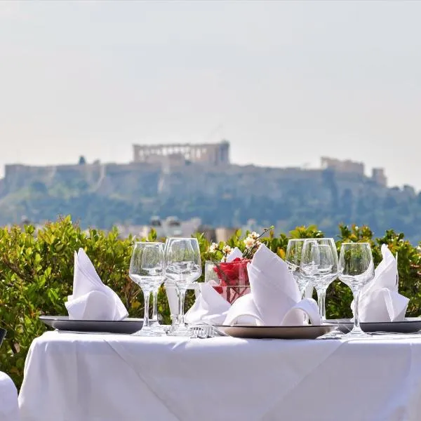
<svg viewBox="0 0 421 421">
<path fill-rule="evenodd" d="M 82 248 L 74 252 L 73 295 L 69 295 L 65 306 L 69 319 L 74 320 L 118 321 L 128 316 L 119 296 L 102 283 Z"/>
</svg>

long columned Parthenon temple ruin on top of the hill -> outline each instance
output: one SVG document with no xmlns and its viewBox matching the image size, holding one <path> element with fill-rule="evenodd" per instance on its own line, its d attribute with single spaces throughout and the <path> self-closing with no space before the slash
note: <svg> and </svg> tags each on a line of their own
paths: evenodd
<svg viewBox="0 0 421 421">
<path fill-rule="evenodd" d="M 189 161 L 210 163 L 213 165 L 229 164 L 229 142 L 201 144 L 168 144 L 168 145 L 133 145 L 134 162 Z"/>
</svg>

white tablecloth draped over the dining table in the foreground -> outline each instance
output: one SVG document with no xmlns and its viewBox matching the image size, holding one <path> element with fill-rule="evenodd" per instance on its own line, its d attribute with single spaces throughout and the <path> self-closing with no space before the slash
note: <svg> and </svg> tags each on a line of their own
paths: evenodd
<svg viewBox="0 0 421 421">
<path fill-rule="evenodd" d="M 34 340 L 23 421 L 419 421 L 421 335 Z"/>
</svg>

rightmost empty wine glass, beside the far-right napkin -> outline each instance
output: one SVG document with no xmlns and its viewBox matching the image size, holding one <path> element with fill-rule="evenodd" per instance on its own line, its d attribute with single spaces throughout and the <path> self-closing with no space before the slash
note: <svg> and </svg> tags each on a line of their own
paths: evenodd
<svg viewBox="0 0 421 421">
<path fill-rule="evenodd" d="M 374 262 L 369 243 L 342 243 L 339 256 L 339 279 L 354 295 L 354 327 L 344 337 L 368 336 L 359 324 L 359 297 L 361 289 L 374 278 Z"/>
</svg>

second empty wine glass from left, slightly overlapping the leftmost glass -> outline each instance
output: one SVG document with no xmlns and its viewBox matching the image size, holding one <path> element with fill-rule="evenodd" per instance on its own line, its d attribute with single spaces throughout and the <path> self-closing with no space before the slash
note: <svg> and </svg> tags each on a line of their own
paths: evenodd
<svg viewBox="0 0 421 421">
<path fill-rule="evenodd" d="M 179 295 L 178 326 L 174 326 L 171 335 L 191 336 L 191 330 L 185 325 L 184 302 L 187 287 L 201 276 L 201 257 L 197 239 L 173 238 L 167 240 L 165 275 L 171 283 L 175 284 Z"/>
</svg>

